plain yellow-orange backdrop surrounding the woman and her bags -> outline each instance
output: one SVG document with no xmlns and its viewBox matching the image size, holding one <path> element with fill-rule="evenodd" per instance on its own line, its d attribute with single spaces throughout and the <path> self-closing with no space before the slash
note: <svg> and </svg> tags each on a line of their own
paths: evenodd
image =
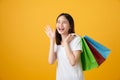
<svg viewBox="0 0 120 80">
<path fill-rule="evenodd" d="M 71 14 L 76 33 L 111 49 L 85 80 L 120 80 L 120 0 L 0 0 L 0 80 L 55 80 L 44 27 Z"/>
</svg>

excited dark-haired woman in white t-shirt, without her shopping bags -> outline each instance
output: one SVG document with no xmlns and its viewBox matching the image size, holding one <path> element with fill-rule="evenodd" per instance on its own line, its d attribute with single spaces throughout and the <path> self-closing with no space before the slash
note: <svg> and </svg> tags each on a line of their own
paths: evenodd
<svg viewBox="0 0 120 80">
<path fill-rule="evenodd" d="M 79 60 L 82 50 L 81 38 L 75 34 L 72 16 L 68 13 L 60 14 L 56 20 L 56 31 L 52 31 L 48 26 L 46 34 L 50 38 L 48 62 L 53 64 L 58 60 L 56 80 L 83 80 Z"/>
</svg>

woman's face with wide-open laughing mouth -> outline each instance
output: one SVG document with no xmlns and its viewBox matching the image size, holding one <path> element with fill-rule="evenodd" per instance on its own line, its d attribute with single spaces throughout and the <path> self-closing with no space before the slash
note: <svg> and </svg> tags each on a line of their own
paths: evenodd
<svg viewBox="0 0 120 80">
<path fill-rule="evenodd" d="M 65 18 L 65 16 L 60 16 L 56 23 L 56 28 L 59 34 L 68 34 L 68 30 L 70 28 L 69 21 Z"/>
</svg>

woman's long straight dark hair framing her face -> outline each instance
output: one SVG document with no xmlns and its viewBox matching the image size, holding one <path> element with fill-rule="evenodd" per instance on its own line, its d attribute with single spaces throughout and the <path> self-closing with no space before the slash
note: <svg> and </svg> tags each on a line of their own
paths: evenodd
<svg viewBox="0 0 120 80">
<path fill-rule="evenodd" d="M 64 17 L 68 20 L 68 22 L 69 22 L 69 24 L 70 24 L 70 29 L 69 29 L 68 33 L 75 33 L 75 30 L 74 30 L 74 20 L 73 20 L 72 16 L 71 16 L 70 14 L 68 14 L 68 13 L 61 13 L 61 14 L 57 17 L 56 23 L 57 23 L 58 18 L 59 18 L 60 16 L 64 16 Z M 56 31 L 55 31 L 55 39 L 56 39 L 56 44 L 57 44 L 57 45 L 60 45 L 60 44 L 61 44 L 61 41 L 62 41 L 62 37 L 61 37 L 61 35 L 58 33 L 57 29 L 56 29 Z"/>
</svg>

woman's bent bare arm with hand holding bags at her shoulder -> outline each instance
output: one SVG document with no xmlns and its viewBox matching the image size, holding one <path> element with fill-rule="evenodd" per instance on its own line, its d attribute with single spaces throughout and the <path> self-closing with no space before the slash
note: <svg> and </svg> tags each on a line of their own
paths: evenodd
<svg viewBox="0 0 120 80">
<path fill-rule="evenodd" d="M 65 46 L 65 50 L 66 50 L 66 54 L 67 54 L 67 57 L 69 59 L 69 62 L 72 66 L 75 66 L 78 62 L 79 62 L 79 57 L 80 57 L 80 53 L 81 53 L 81 50 L 74 50 L 72 51 L 71 48 L 70 48 L 70 42 L 75 38 L 74 35 L 71 35 L 69 34 L 67 36 L 67 38 L 65 39 L 64 41 L 64 46 Z M 77 47 L 79 47 L 79 38 L 77 38 L 77 42 L 75 43 L 77 45 Z M 73 44 L 72 47 L 75 46 L 75 44 Z M 76 47 L 75 47 L 76 48 Z"/>
</svg>

